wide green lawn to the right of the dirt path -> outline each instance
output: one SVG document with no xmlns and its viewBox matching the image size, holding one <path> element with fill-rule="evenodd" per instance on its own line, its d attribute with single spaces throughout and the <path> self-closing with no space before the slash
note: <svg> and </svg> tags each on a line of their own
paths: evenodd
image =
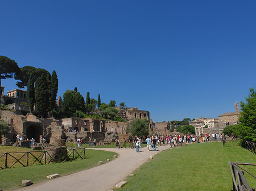
<svg viewBox="0 0 256 191">
<path fill-rule="evenodd" d="M 144 163 L 128 183 L 115 190 L 232 190 L 229 162 L 256 163 L 256 155 L 241 147 L 223 147 L 221 142 L 194 143 L 172 148 Z M 256 175 L 256 166 L 243 166 Z M 256 179 L 245 173 L 256 187 Z"/>
</svg>

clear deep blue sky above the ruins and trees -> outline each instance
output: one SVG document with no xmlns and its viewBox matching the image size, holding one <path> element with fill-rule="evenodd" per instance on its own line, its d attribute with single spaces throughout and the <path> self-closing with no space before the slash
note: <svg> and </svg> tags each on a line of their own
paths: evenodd
<svg viewBox="0 0 256 191">
<path fill-rule="evenodd" d="M 150 111 L 153 121 L 234 112 L 256 83 L 256 1 L 0 2 L 0 55 L 56 71 L 59 96 Z M 14 79 L 2 80 L 7 90 Z"/>
</svg>

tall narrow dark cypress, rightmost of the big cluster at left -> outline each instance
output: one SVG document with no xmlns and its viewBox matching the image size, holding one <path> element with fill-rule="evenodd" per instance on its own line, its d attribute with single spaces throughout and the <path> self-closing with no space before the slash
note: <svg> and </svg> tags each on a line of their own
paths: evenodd
<svg viewBox="0 0 256 191">
<path fill-rule="evenodd" d="M 52 71 L 51 86 L 49 92 L 49 111 L 56 109 L 56 97 L 58 92 L 59 80 L 55 70 Z"/>
</svg>

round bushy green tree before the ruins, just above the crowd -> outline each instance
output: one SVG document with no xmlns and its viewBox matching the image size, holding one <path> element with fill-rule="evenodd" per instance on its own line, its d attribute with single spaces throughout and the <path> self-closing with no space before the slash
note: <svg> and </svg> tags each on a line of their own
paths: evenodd
<svg viewBox="0 0 256 191">
<path fill-rule="evenodd" d="M 148 121 L 145 118 L 136 118 L 131 121 L 131 124 L 127 125 L 127 132 L 131 133 L 133 136 L 147 136 L 149 133 Z"/>
</svg>

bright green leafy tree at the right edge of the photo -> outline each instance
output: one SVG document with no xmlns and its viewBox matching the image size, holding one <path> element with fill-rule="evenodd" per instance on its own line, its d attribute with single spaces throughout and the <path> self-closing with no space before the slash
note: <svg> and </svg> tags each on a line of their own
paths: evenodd
<svg viewBox="0 0 256 191">
<path fill-rule="evenodd" d="M 241 128 L 244 132 L 241 138 L 245 141 L 256 141 L 256 92 L 254 88 L 250 88 L 246 102 L 241 101 Z"/>
</svg>

